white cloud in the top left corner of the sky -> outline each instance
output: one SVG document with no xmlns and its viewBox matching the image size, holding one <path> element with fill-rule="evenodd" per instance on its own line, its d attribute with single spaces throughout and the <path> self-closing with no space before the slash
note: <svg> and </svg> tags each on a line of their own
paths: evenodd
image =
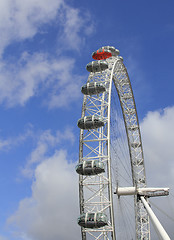
<svg viewBox="0 0 174 240">
<path fill-rule="evenodd" d="M 53 23 L 53 20 L 63 28 L 61 40 L 66 49 L 79 50 L 84 35 L 93 31 L 89 13 L 67 5 L 65 0 L 1 1 L 0 55 L 12 42 L 34 37 L 44 24 Z"/>
</svg>

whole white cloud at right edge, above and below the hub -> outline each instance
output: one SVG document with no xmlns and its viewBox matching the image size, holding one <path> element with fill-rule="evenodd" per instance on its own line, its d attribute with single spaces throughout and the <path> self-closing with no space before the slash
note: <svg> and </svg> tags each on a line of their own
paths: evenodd
<svg viewBox="0 0 174 240">
<path fill-rule="evenodd" d="M 147 184 L 149 187 L 170 187 L 168 197 L 151 199 L 162 211 L 174 213 L 174 107 L 149 112 L 141 124 L 145 153 Z M 162 225 L 173 236 L 173 222 L 154 208 Z M 173 212 L 172 212 L 173 210 Z M 153 233 L 152 239 L 156 235 Z"/>
</svg>

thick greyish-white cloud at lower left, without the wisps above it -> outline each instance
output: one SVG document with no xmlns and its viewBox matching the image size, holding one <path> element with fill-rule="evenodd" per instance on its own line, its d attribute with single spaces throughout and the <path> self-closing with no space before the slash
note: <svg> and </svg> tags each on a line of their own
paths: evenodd
<svg viewBox="0 0 174 240">
<path fill-rule="evenodd" d="M 80 239 L 78 180 L 66 151 L 56 151 L 35 170 L 32 196 L 8 220 L 31 240 Z M 22 238 L 21 239 L 25 239 Z"/>
</svg>

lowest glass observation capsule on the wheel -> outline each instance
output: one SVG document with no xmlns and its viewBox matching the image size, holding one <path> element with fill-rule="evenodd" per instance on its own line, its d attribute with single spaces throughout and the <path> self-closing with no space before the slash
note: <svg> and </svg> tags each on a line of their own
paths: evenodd
<svg viewBox="0 0 174 240">
<path fill-rule="evenodd" d="M 83 213 L 78 218 L 78 224 L 85 228 L 100 228 L 108 224 L 108 219 L 104 213 Z"/>
</svg>

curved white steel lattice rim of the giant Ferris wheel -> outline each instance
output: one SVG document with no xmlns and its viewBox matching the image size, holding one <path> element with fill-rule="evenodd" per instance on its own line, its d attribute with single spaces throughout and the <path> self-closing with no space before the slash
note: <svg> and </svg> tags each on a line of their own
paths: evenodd
<svg viewBox="0 0 174 240">
<path fill-rule="evenodd" d="M 111 170 L 113 160 L 111 159 L 111 131 L 113 131 L 111 128 L 111 97 L 114 86 L 118 93 L 127 136 L 132 187 L 135 187 L 135 189 L 146 188 L 140 128 L 129 76 L 123 64 L 123 58 L 118 56 L 118 50 L 115 49 L 114 51 L 114 48 L 109 46 L 101 49 L 102 51 L 98 51 L 100 53 L 99 59 L 102 59 L 101 52 L 104 52 L 105 49 L 107 53 L 110 51 L 112 56 L 107 56 L 108 58 L 105 59 L 106 65 L 108 65 L 107 69 L 91 71 L 89 74 L 85 87 L 87 89 L 87 86 L 95 86 L 95 89 L 91 91 L 91 94 L 87 90 L 83 92 L 81 119 L 92 116 L 91 119 L 102 119 L 103 125 L 99 128 L 91 127 L 87 129 L 83 127 L 80 130 L 79 164 L 84 161 L 86 164 L 87 161 L 96 160 L 103 164 L 105 171 L 95 175 L 79 174 L 79 199 L 81 215 L 94 212 L 102 213 L 106 214 L 109 220 L 107 225 L 101 228 L 82 227 L 82 240 L 116 239 L 117 226 L 115 226 L 113 204 L 115 196 L 113 195 L 113 173 Z M 95 57 L 96 54 L 97 52 L 95 52 Z M 104 90 L 100 92 L 97 86 L 104 86 Z M 137 194 L 134 195 L 134 211 L 135 239 L 150 239 L 149 218 Z M 84 221 L 86 221 L 84 226 L 88 226 L 87 219 Z"/>
</svg>

